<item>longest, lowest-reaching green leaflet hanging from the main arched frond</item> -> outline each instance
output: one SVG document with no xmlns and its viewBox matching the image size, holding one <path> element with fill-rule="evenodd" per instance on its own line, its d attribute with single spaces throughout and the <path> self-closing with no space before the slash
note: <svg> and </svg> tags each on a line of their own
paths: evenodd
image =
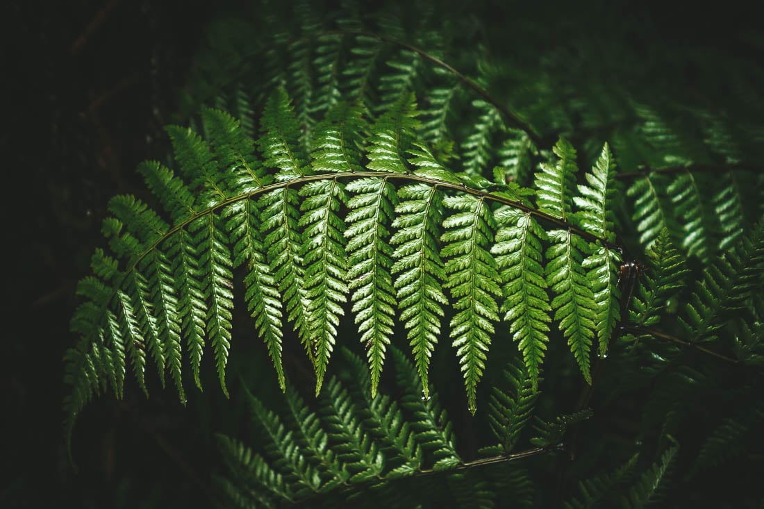
<svg viewBox="0 0 764 509">
<path fill-rule="evenodd" d="M 465 378 L 467 400 L 472 413 L 477 409 L 478 381 L 494 324 L 498 321 L 496 297 L 501 294 L 500 277 L 488 246 L 494 240 L 496 223 L 488 204 L 471 195 L 446 196 L 443 204 L 455 210 L 443 222 L 447 231 L 441 240 L 445 262 L 445 287 L 451 289 L 453 307 L 451 338 Z"/>
</svg>

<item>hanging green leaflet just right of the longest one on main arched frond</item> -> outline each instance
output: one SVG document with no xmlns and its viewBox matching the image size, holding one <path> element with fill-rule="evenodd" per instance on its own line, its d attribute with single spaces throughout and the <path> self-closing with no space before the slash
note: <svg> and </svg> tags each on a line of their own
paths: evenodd
<svg viewBox="0 0 764 509">
<path fill-rule="evenodd" d="M 541 241 L 545 232 L 530 212 L 501 209 L 496 214 L 499 231 L 491 253 L 496 255 L 503 282 L 501 311 L 510 322 L 513 339 L 523 353 L 533 391 L 539 387 L 541 365 L 549 342 L 549 295 L 542 263 Z"/>
</svg>

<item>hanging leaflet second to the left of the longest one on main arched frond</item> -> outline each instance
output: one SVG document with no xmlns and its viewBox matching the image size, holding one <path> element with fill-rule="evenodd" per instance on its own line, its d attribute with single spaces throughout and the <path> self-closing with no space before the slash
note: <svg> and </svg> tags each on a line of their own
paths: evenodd
<svg viewBox="0 0 764 509">
<path fill-rule="evenodd" d="M 396 305 L 390 268 L 393 249 L 387 225 L 394 216 L 397 194 L 387 179 L 367 178 L 348 184 L 348 287 L 355 323 L 366 344 L 371 368 L 371 394 L 377 394 L 385 350 L 393 335 Z"/>
</svg>

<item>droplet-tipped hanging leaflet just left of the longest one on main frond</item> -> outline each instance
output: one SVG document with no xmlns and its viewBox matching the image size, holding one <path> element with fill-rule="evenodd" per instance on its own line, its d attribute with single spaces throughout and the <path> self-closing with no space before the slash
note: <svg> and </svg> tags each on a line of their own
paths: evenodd
<svg viewBox="0 0 764 509">
<path fill-rule="evenodd" d="M 440 336 L 443 306 L 448 300 L 442 290 L 445 280 L 438 251 L 439 225 L 442 221 L 442 192 L 434 186 L 411 184 L 398 190 L 401 200 L 395 209 L 390 239 L 400 319 L 408 330 L 416 368 L 422 379 L 425 397 L 429 396 L 429 360 Z"/>
</svg>

